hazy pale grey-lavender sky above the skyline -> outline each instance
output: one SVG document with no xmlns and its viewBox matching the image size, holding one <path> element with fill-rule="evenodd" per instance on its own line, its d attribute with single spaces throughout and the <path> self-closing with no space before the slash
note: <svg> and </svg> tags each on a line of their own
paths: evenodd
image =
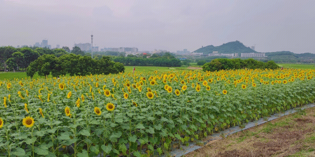
<svg viewBox="0 0 315 157">
<path fill-rule="evenodd" d="M 79 1 L 0 0 L 0 46 L 101 47 L 194 51 L 229 41 L 256 51 L 315 53 L 315 0 Z"/>
</svg>

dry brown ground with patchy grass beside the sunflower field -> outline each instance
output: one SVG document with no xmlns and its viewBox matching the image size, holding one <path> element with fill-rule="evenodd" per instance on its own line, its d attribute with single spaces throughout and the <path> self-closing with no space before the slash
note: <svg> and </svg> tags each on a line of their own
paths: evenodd
<svg viewBox="0 0 315 157">
<path fill-rule="evenodd" d="M 315 157 L 315 108 L 278 118 L 222 140 L 210 141 L 186 157 Z"/>
</svg>

